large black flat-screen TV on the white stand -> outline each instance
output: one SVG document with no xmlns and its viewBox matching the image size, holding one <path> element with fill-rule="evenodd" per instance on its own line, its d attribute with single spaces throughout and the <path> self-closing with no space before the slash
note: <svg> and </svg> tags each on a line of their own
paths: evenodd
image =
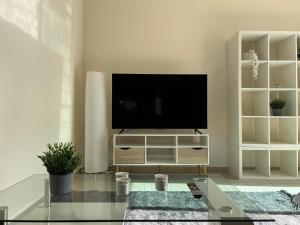
<svg viewBox="0 0 300 225">
<path fill-rule="evenodd" d="M 207 75 L 112 74 L 113 129 L 206 129 Z"/>
</svg>

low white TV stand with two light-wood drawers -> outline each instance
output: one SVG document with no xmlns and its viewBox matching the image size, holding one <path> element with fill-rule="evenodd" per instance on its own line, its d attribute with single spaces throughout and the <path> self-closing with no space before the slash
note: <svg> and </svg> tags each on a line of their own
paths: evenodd
<svg viewBox="0 0 300 225">
<path fill-rule="evenodd" d="M 197 166 L 209 165 L 208 134 L 121 133 L 113 136 L 113 165 Z"/>
</svg>

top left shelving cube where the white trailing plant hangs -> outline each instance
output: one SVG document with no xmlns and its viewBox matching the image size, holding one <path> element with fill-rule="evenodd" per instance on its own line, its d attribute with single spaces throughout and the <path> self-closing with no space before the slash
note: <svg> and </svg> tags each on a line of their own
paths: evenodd
<svg viewBox="0 0 300 225">
<path fill-rule="evenodd" d="M 242 59 L 243 53 L 249 52 L 249 49 L 254 49 L 259 60 L 268 60 L 268 35 L 244 35 L 242 36 Z"/>
</svg>

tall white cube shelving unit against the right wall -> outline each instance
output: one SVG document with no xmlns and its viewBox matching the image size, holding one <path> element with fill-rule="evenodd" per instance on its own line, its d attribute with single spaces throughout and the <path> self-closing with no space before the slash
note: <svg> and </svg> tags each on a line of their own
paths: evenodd
<svg viewBox="0 0 300 225">
<path fill-rule="evenodd" d="M 239 179 L 300 177 L 300 32 L 239 31 L 228 42 L 229 171 Z M 243 53 L 254 49 L 258 79 Z M 286 101 L 282 116 L 270 102 Z M 299 172 L 298 172 L 299 171 Z"/>
</svg>

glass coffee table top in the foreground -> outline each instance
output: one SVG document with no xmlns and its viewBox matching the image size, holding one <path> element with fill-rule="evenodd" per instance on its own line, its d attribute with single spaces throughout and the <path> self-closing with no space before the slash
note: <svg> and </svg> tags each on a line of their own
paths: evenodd
<svg viewBox="0 0 300 225">
<path fill-rule="evenodd" d="M 154 174 L 130 174 L 129 177 L 129 195 L 116 195 L 114 174 L 76 174 L 71 194 L 47 198 L 48 187 L 45 184 L 48 175 L 33 175 L 0 192 L 0 224 L 274 222 L 274 219 L 220 175 L 169 175 L 167 191 L 156 191 Z M 202 196 L 194 197 L 188 183 L 195 184 Z M 248 210 L 243 211 L 229 197 L 228 192 L 235 198 L 247 199 L 245 205 Z"/>
</svg>

